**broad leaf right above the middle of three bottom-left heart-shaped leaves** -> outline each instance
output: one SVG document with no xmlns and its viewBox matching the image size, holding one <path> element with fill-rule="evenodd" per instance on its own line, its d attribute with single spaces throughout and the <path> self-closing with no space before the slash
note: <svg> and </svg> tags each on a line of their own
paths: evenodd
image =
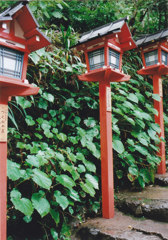
<svg viewBox="0 0 168 240">
<path fill-rule="evenodd" d="M 33 169 L 32 179 L 37 185 L 39 185 L 42 188 L 49 190 L 51 187 L 52 184 L 51 179 L 48 177 L 46 173 L 42 172 L 37 168 Z"/>
</svg>

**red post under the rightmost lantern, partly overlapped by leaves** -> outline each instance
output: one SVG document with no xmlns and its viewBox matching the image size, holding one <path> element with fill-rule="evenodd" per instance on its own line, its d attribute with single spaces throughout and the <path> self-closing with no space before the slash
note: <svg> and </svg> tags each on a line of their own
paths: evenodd
<svg viewBox="0 0 168 240">
<path fill-rule="evenodd" d="M 163 94 L 162 94 L 162 79 L 160 75 L 153 75 L 153 93 L 160 95 L 160 102 L 154 100 L 154 108 L 158 111 L 158 116 L 155 115 L 155 123 L 159 124 L 161 132 L 159 137 L 164 138 L 164 118 L 163 118 Z M 161 163 L 158 167 L 158 173 L 166 173 L 165 159 L 165 142 L 161 140 L 159 144 L 158 156 L 161 157 Z"/>
</svg>

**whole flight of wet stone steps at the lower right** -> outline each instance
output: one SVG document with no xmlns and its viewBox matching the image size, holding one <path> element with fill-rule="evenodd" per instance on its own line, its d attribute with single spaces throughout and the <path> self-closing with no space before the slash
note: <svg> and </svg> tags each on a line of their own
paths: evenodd
<svg viewBox="0 0 168 240">
<path fill-rule="evenodd" d="M 116 194 L 115 217 L 83 223 L 72 240 L 168 240 L 168 173 L 142 192 Z"/>
</svg>

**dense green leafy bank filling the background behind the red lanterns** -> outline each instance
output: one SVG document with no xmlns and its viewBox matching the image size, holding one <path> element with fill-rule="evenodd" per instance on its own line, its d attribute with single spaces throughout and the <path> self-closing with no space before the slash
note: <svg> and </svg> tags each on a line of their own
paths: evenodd
<svg viewBox="0 0 168 240">
<path fill-rule="evenodd" d="M 0 2 L 1 10 L 11 2 Z M 30 2 L 52 45 L 30 55 L 27 78 L 39 94 L 9 103 L 8 239 L 70 239 L 70 221 L 77 225 L 100 213 L 98 83 L 78 81 L 84 59 L 70 46 L 79 33 L 126 15 L 135 37 L 155 32 L 167 27 L 166 7 L 161 0 Z M 131 80 L 111 84 L 116 189 L 152 183 L 160 162 L 153 108 L 160 97 L 151 80 L 136 73 L 141 66 L 136 51 L 125 53 L 123 70 Z"/>
</svg>

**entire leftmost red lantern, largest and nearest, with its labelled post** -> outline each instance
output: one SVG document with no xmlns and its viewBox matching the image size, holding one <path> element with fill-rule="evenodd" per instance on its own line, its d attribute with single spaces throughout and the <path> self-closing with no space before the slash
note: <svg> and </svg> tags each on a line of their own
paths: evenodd
<svg viewBox="0 0 168 240">
<path fill-rule="evenodd" d="M 50 44 L 40 32 L 27 6 L 21 1 L 0 14 L 0 239 L 7 239 L 7 126 L 8 101 L 28 96 L 39 88 L 26 79 L 28 54 Z"/>
</svg>

